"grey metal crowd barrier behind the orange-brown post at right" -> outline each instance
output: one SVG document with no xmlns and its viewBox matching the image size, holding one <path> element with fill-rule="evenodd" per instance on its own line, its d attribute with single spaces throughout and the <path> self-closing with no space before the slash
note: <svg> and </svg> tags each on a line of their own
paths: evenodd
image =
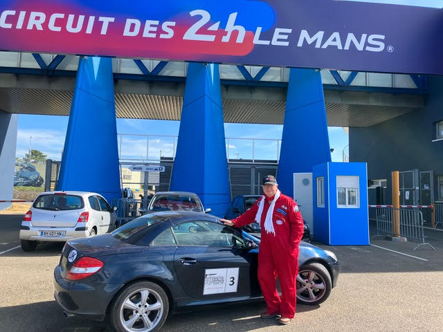
<svg viewBox="0 0 443 332">
<path fill-rule="evenodd" d="M 435 250 L 433 246 L 429 243 L 425 243 L 424 236 L 424 225 L 423 225 L 423 215 L 419 210 L 409 210 L 406 208 L 395 209 L 395 208 L 375 208 L 376 220 L 377 220 L 377 235 L 393 235 L 406 237 L 408 239 L 415 239 L 422 241 L 413 250 L 419 248 L 419 246 L 430 246 Z M 394 230 L 394 218 L 397 214 L 400 224 L 399 234 Z"/>
</svg>

